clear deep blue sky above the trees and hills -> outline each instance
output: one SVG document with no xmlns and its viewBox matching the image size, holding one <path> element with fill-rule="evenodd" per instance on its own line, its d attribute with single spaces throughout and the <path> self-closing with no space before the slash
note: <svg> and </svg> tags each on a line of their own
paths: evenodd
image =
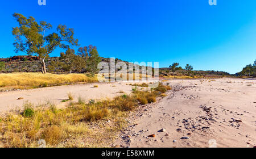
<svg viewBox="0 0 256 159">
<path fill-rule="evenodd" d="M 54 28 L 74 28 L 81 46 L 96 45 L 102 57 L 229 73 L 256 59 L 255 0 L 217 0 L 217 6 L 208 0 L 46 1 L 47 6 L 38 0 L 1 1 L 0 57 L 17 55 L 11 28 L 17 26 L 12 14 L 19 12 Z"/>
</svg>

